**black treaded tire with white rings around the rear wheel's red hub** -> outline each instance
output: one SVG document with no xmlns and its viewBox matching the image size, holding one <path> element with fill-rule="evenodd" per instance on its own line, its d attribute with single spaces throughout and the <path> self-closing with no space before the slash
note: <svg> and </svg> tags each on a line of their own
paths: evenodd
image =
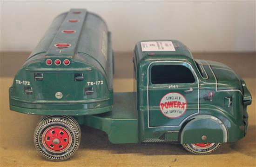
<svg viewBox="0 0 256 167">
<path fill-rule="evenodd" d="M 67 116 L 46 116 L 38 123 L 34 132 L 34 146 L 45 158 L 54 161 L 63 161 L 74 155 L 80 145 L 80 127 L 71 117 Z M 68 144 L 65 149 L 53 150 L 46 144 L 45 134 L 51 128 L 60 128 L 68 134 Z M 47 131 L 48 130 L 48 131 Z M 62 134 L 61 134 L 62 135 Z M 64 142 L 64 141 L 63 141 Z M 62 143 L 63 143 L 62 142 Z"/>
</svg>

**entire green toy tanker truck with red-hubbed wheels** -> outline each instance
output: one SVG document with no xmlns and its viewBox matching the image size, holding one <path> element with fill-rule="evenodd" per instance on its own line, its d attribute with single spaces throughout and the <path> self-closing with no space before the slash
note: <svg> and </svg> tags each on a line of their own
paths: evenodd
<svg viewBox="0 0 256 167">
<path fill-rule="evenodd" d="M 83 9 L 54 19 L 14 77 L 10 109 L 43 115 L 35 148 L 65 160 L 81 142 L 79 124 L 112 143 L 173 141 L 194 154 L 246 134 L 251 95 L 225 64 L 197 60 L 177 40 L 141 41 L 135 92 L 113 94 L 113 51 L 104 21 Z"/>
</svg>

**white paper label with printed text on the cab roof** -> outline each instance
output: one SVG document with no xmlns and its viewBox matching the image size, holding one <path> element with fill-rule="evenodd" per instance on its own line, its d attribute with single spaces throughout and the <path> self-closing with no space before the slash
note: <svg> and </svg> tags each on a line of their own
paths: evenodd
<svg viewBox="0 0 256 167">
<path fill-rule="evenodd" d="M 141 42 L 142 51 L 175 51 L 172 41 Z"/>
</svg>

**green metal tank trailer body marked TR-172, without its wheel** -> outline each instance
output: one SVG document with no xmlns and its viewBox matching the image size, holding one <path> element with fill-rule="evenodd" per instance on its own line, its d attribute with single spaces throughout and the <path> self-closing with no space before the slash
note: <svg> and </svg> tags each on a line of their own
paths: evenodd
<svg viewBox="0 0 256 167">
<path fill-rule="evenodd" d="M 74 33 L 63 33 L 65 30 Z M 70 47 L 56 47 L 59 43 Z M 53 63 L 46 64 L 47 59 Z M 60 65 L 54 64 L 57 59 Z M 65 65 L 64 60 L 70 64 Z M 84 9 L 71 9 L 54 19 L 15 75 L 9 89 L 10 109 L 37 115 L 108 112 L 113 106 L 112 62 L 111 34 L 105 22 Z"/>
</svg>

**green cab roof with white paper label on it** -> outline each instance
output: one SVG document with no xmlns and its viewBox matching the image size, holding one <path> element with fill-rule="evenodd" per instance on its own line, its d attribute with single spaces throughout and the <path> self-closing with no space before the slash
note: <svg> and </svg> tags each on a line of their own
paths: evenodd
<svg viewBox="0 0 256 167">
<path fill-rule="evenodd" d="M 146 46 L 145 46 L 146 45 Z M 168 45 L 168 47 L 165 47 Z M 142 48 L 143 47 L 143 48 Z M 135 45 L 136 62 L 150 59 L 193 61 L 189 48 L 178 40 L 144 40 Z"/>
</svg>

